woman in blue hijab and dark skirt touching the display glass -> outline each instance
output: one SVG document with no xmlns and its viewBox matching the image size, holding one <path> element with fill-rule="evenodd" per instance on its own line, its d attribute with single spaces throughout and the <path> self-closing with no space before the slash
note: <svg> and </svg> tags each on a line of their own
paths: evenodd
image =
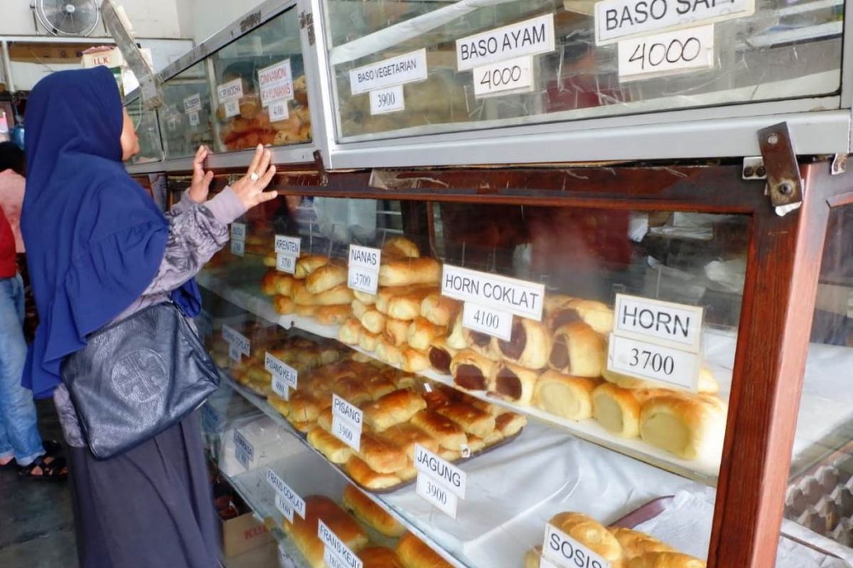
<svg viewBox="0 0 853 568">
<path fill-rule="evenodd" d="M 276 197 L 258 147 L 250 174 L 206 201 L 201 148 L 189 192 L 168 216 L 125 173 L 139 151 L 119 89 L 104 67 L 45 77 L 27 101 L 26 198 L 21 228 L 40 316 L 25 386 L 54 397 L 69 447 L 83 568 L 217 565 L 215 513 L 197 416 L 120 456 L 99 461 L 81 435 L 62 359 L 90 333 L 171 298 L 200 310 L 192 277 L 227 242 L 228 224 Z"/>
</svg>

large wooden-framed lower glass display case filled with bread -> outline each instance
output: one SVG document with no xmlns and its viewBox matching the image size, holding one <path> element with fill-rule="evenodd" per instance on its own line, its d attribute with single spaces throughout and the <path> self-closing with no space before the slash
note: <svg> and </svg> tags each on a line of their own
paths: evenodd
<svg viewBox="0 0 853 568">
<path fill-rule="evenodd" d="M 851 565 L 850 175 L 801 172 L 278 175 L 198 278 L 277 428 L 237 485 L 298 566 Z"/>
</svg>

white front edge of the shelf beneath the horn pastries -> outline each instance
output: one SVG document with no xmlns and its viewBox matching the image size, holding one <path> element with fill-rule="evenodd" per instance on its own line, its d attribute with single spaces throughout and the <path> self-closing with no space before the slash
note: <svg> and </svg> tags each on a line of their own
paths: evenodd
<svg viewBox="0 0 853 568">
<path fill-rule="evenodd" d="M 253 313 L 259 318 L 263 318 L 270 323 L 279 324 L 281 327 L 288 330 L 295 327 L 316 336 L 334 339 L 336 341 L 338 340 L 339 326 L 317 324 L 312 318 L 303 318 L 294 315 L 281 316 L 275 312 L 270 301 L 261 294 L 260 288 L 256 285 L 255 289 L 235 289 L 232 285 L 224 284 L 212 273 L 200 274 L 199 284 L 206 289 L 211 290 L 214 294 L 223 297 L 225 300 L 234 303 L 237 307 L 241 307 L 247 310 L 247 312 Z M 248 285 L 252 286 L 253 284 Z M 363 351 L 363 349 L 357 346 L 347 347 L 375 359 L 374 353 Z M 397 369 L 404 370 L 400 367 L 397 367 Z M 435 370 L 424 370 L 415 374 L 432 381 L 454 387 L 453 377 L 438 373 Z M 519 414 L 529 416 L 539 422 L 545 422 L 547 424 L 560 427 L 563 431 L 571 433 L 573 436 L 577 436 L 577 438 L 585 439 L 594 444 L 606 447 L 609 450 L 617 451 L 625 456 L 630 456 L 642 462 L 647 462 L 656 468 L 664 469 L 670 473 L 676 473 L 677 475 L 681 475 L 687 479 L 693 479 L 694 481 L 698 481 L 704 485 L 717 485 L 719 474 L 718 461 L 713 462 L 707 458 L 693 461 L 682 460 L 676 456 L 667 454 L 663 450 L 658 450 L 651 445 L 647 445 L 640 439 L 622 439 L 612 436 L 612 434 L 608 433 L 604 427 L 601 427 L 592 419 L 583 422 L 573 422 L 562 419 L 559 416 L 554 416 L 533 406 L 522 406 L 502 399 L 497 399 L 495 397 L 490 397 L 485 392 L 467 392 L 478 399 L 485 400 L 491 404 L 501 405 L 508 410 L 513 410 Z"/>
</svg>

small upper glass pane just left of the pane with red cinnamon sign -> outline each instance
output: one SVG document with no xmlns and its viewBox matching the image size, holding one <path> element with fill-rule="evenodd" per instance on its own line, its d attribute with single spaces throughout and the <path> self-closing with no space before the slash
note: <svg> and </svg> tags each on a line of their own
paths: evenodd
<svg viewBox="0 0 853 568">
<path fill-rule="evenodd" d="M 200 61 L 166 81 L 163 96 L 160 131 L 168 158 L 193 156 L 202 144 L 212 147 L 211 84 L 206 62 Z"/>
</svg>

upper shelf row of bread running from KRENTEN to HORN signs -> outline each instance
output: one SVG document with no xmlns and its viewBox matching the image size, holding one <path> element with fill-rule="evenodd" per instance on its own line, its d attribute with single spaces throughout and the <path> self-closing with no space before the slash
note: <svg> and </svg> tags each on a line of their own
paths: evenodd
<svg viewBox="0 0 853 568">
<path fill-rule="evenodd" d="M 200 284 L 286 329 L 337 339 L 397 370 L 716 485 L 727 406 L 715 376 L 728 376 L 732 353 L 706 355 L 696 394 L 609 372 L 612 310 L 556 294 L 546 296 L 542 322 L 514 318 L 510 341 L 485 336 L 463 327 L 461 302 L 440 294 L 441 264 L 417 254 L 406 239 L 388 240 L 376 295 L 350 290 L 343 262 L 324 255 L 303 255 L 293 275 L 264 272 L 256 261 L 239 285 L 216 271 Z"/>
</svg>

